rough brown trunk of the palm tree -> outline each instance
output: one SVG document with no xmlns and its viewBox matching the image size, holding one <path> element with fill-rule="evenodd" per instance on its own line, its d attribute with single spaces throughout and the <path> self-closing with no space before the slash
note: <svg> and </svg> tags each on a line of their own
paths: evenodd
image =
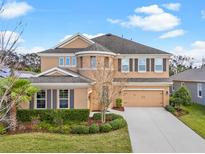
<svg viewBox="0 0 205 154">
<path fill-rule="evenodd" d="M 9 129 L 10 131 L 14 132 L 16 131 L 16 127 L 17 127 L 16 105 L 13 105 L 13 107 L 11 108 L 9 116 L 10 116 Z"/>
</svg>

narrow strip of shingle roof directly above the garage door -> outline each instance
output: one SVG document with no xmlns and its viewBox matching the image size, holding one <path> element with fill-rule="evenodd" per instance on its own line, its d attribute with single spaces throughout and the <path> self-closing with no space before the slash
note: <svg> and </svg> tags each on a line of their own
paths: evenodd
<svg viewBox="0 0 205 154">
<path fill-rule="evenodd" d="M 171 82 L 169 78 L 114 78 L 113 82 Z"/>
</svg>

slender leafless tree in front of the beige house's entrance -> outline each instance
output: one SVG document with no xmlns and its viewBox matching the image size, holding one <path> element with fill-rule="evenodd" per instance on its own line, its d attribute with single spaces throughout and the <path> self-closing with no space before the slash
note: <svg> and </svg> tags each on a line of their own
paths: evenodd
<svg viewBox="0 0 205 154">
<path fill-rule="evenodd" d="M 109 61 L 108 67 L 105 66 L 103 61 L 97 64 L 96 70 L 92 73 L 92 78 L 95 79 L 93 85 L 93 97 L 95 102 L 100 103 L 101 107 L 101 121 L 105 123 L 106 112 L 110 107 L 110 104 L 115 102 L 117 97 L 120 97 L 123 88 L 126 84 L 126 76 L 122 78 L 118 85 L 113 82 L 115 75 L 114 63 Z"/>
</svg>

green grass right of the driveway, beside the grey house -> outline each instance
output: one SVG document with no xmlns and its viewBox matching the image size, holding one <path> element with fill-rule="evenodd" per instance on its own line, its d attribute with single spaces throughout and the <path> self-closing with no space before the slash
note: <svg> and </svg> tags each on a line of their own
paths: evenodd
<svg viewBox="0 0 205 154">
<path fill-rule="evenodd" d="M 191 106 L 183 106 L 183 109 L 189 111 L 189 114 L 181 116 L 179 119 L 205 138 L 205 106 L 193 104 Z"/>
</svg>

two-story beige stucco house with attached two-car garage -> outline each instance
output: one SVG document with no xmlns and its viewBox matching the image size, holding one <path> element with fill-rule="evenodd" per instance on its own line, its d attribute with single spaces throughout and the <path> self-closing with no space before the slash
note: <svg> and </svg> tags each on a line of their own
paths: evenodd
<svg viewBox="0 0 205 154">
<path fill-rule="evenodd" d="M 113 34 L 93 39 L 76 34 L 38 55 L 42 73 L 30 80 L 41 91 L 27 108 L 100 109 L 92 89 L 92 73 L 100 63 L 113 71 L 116 86 L 126 75 L 126 88 L 119 96 L 124 106 L 165 106 L 169 102 L 171 55 L 167 52 Z"/>
</svg>

